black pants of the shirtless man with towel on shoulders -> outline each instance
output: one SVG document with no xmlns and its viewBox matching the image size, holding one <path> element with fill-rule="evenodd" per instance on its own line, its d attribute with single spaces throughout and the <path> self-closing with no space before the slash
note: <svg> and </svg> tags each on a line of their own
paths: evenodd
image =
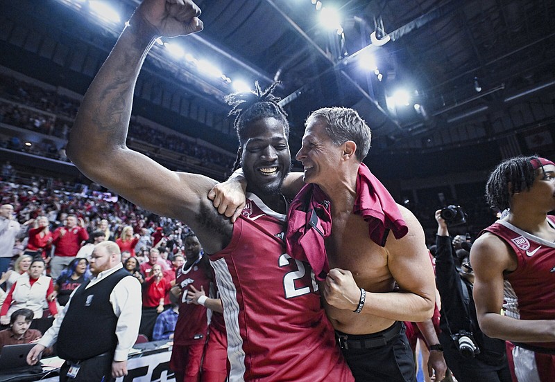
<svg viewBox="0 0 555 382">
<path fill-rule="evenodd" d="M 379 336 L 349 336 L 366 340 Z M 386 345 L 370 349 L 341 349 L 345 361 L 357 382 L 413 382 L 416 381 L 416 366 L 409 340 L 404 329 Z"/>
</svg>

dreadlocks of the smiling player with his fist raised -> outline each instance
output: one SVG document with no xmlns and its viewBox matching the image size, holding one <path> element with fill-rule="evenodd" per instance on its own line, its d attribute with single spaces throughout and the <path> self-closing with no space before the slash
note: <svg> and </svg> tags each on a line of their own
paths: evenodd
<svg viewBox="0 0 555 382">
<path fill-rule="evenodd" d="M 262 91 L 257 81 L 255 82 L 255 90 L 253 91 L 232 93 L 225 96 L 225 102 L 232 107 L 228 116 L 235 116 L 233 127 L 237 131 L 239 145 L 243 143 L 243 133 L 248 124 L 261 118 L 273 117 L 282 121 L 285 127 L 285 136 L 289 138 L 287 113 L 285 113 L 284 109 L 278 104 L 280 98 L 273 95 L 273 91 L 278 84 L 280 84 L 280 82 L 275 81 L 266 90 Z M 232 171 L 241 167 L 240 163 L 241 158 L 239 157 L 238 149 L 237 159 L 235 159 Z"/>
</svg>

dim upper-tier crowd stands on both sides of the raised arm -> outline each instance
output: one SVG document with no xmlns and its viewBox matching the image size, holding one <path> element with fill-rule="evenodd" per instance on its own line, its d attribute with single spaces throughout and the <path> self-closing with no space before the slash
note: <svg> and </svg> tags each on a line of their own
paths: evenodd
<svg viewBox="0 0 555 382">
<path fill-rule="evenodd" d="M 0 74 L 0 123 L 66 140 L 79 104 L 78 100 L 60 95 L 56 91 Z M 222 173 L 228 171 L 234 161 L 230 156 L 198 145 L 181 134 L 169 134 L 136 121 L 130 124 L 129 136 L 171 152 L 191 156 L 202 165 L 215 166 Z M 67 161 L 65 143 L 55 143 L 49 139 L 42 139 L 41 142 L 28 146 L 12 136 L 1 140 L 0 147 Z"/>
</svg>

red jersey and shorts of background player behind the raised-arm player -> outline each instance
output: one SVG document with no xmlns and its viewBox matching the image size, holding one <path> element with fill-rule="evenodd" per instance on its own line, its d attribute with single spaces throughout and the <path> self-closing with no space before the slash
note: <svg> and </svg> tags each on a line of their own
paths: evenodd
<svg viewBox="0 0 555 382">
<path fill-rule="evenodd" d="M 202 255 L 189 269 L 185 269 L 187 264 L 183 264 L 176 274 L 176 285 L 181 287 L 182 293 L 176 331 L 173 333 L 170 367 L 176 373 L 177 382 L 183 381 L 185 376 L 185 380 L 194 381 L 200 374 L 208 329 L 207 309 L 203 305 L 188 304 L 187 291 L 191 285 L 199 291 L 201 286 L 205 291 L 210 290 L 210 279 L 200 264 L 201 259 Z"/>
</svg>

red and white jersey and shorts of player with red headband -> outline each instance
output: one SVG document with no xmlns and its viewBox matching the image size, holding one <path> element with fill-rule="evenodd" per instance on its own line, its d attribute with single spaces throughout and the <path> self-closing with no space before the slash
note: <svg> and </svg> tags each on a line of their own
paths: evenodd
<svg viewBox="0 0 555 382">
<path fill-rule="evenodd" d="M 555 217 L 548 215 L 547 219 L 555 228 Z M 496 221 L 481 234 L 486 231 L 503 239 L 517 257 L 517 269 L 509 273 L 504 282 L 505 315 L 518 320 L 554 320 L 555 243 L 531 235 L 505 220 Z M 536 352 L 512 344 L 508 346 L 515 380 L 555 381 L 555 355 L 542 353 L 542 349 L 555 353 L 555 342 L 522 346 L 533 347 Z M 527 371 L 522 372 L 523 368 Z"/>
</svg>

